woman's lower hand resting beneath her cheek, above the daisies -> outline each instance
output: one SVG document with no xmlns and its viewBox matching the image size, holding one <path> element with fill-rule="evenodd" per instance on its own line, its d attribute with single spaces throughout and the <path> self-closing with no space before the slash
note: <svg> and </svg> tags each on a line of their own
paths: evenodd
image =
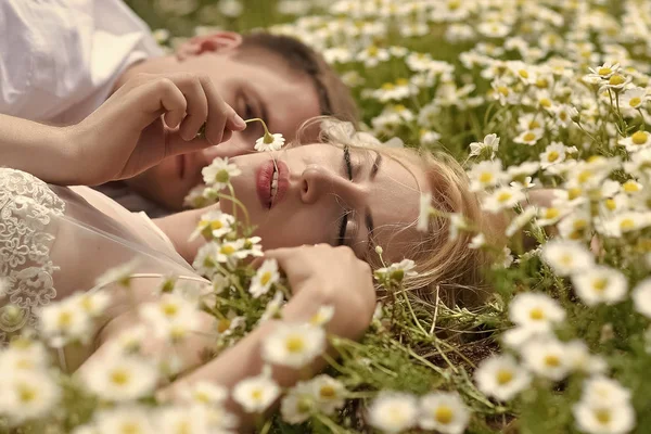
<svg viewBox="0 0 651 434">
<path fill-rule="evenodd" d="M 294 293 L 283 318 L 308 321 L 319 307 L 331 305 L 330 333 L 358 339 L 366 331 L 375 309 L 373 277 L 350 248 L 318 244 L 266 251 L 265 257 L 278 260 Z"/>
</svg>

